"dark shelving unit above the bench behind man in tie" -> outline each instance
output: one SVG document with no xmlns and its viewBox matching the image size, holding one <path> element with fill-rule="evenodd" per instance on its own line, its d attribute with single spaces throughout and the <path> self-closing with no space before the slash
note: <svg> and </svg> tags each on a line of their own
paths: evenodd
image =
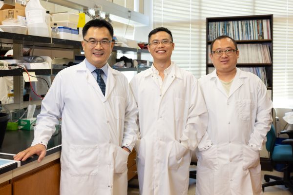
<svg viewBox="0 0 293 195">
<path fill-rule="evenodd" d="M 0 32 L 0 43 L 2 44 L 12 44 L 13 45 L 13 58 L 22 59 L 22 48 L 25 46 L 32 46 L 38 48 L 47 49 L 72 49 L 72 52 L 82 49 L 81 41 L 66 40 L 66 39 L 51 39 L 49 37 L 39 37 L 31 35 L 22 35 L 16 33 Z M 117 53 L 131 53 L 136 54 L 137 59 L 141 59 L 141 53 L 148 53 L 148 50 L 135 49 L 128 47 L 114 46 L 112 56 L 115 57 Z M 119 71 L 136 71 L 140 72 L 147 68 L 121 68 L 117 69 Z M 35 72 L 36 75 L 56 75 L 62 69 L 37 69 L 28 70 L 29 72 Z M 22 109 L 27 106 L 27 102 L 23 102 L 23 79 L 22 79 L 22 69 L 14 70 L 0 70 L 0 77 L 13 76 L 14 83 L 14 104 L 5 105 L 8 109 Z M 40 104 L 41 100 L 35 101 L 34 103 Z"/>
</svg>

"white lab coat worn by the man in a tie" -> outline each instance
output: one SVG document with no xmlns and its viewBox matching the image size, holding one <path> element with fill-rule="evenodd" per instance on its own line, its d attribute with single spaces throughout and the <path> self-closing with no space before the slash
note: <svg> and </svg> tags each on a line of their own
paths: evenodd
<svg viewBox="0 0 293 195">
<path fill-rule="evenodd" d="M 137 107 L 125 76 L 108 66 L 104 97 L 84 61 L 62 70 L 42 100 L 32 145 L 47 145 L 60 117 L 61 195 L 126 195 L 121 146 L 137 140 Z"/>
</svg>

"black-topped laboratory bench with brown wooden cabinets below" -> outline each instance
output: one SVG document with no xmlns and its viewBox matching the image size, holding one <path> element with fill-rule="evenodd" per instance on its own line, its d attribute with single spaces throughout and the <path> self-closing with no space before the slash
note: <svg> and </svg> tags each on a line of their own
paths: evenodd
<svg viewBox="0 0 293 195">
<path fill-rule="evenodd" d="M 30 147 L 33 138 L 34 131 L 6 131 L 0 148 L 0 195 L 59 195 L 61 132 L 51 137 L 40 163 L 37 155 L 14 161 L 13 156 Z M 135 158 L 133 149 L 127 162 L 128 180 L 136 176 Z"/>
</svg>

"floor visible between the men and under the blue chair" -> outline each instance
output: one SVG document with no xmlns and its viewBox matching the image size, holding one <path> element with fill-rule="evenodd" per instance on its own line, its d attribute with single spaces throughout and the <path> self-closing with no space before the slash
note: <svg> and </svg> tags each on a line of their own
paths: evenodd
<svg viewBox="0 0 293 195">
<path fill-rule="evenodd" d="M 195 166 L 190 166 L 190 170 L 195 170 Z M 269 174 L 269 175 L 276 175 L 276 176 L 282 176 L 282 173 L 273 171 L 262 171 L 262 175 Z M 264 178 L 262 176 L 262 178 Z M 138 186 L 138 180 L 137 179 L 131 179 L 129 181 L 130 184 Z M 263 179 L 263 183 L 265 183 L 265 180 Z M 196 180 L 195 179 L 189 179 L 189 189 L 188 189 L 188 195 L 195 195 L 195 187 L 196 187 Z M 139 195 L 139 191 L 136 188 L 128 187 L 128 195 Z M 266 187 L 264 195 L 292 195 L 287 188 L 284 186 L 271 186 Z"/>
</svg>

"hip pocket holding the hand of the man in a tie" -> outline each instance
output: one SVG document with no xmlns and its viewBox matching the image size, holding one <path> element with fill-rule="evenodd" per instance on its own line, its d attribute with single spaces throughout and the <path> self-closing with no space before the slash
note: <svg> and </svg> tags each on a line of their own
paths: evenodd
<svg viewBox="0 0 293 195">
<path fill-rule="evenodd" d="M 120 146 L 117 147 L 117 154 L 114 156 L 114 173 L 122 174 L 127 170 L 127 159 L 130 153 Z"/>
</svg>

